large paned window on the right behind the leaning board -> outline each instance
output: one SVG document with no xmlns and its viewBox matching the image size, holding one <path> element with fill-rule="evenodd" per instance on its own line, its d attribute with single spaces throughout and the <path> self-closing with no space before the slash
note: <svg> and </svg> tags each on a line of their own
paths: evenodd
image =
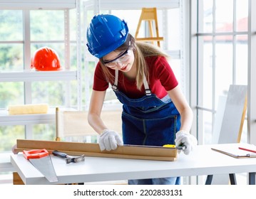
<svg viewBox="0 0 256 199">
<path fill-rule="evenodd" d="M 198 135 L 202 144 L 211 144 L 219 97 L 227 95 L 230 85 L 247 85 L 248 1 L 199 0 L 197 4 Z M 243 127 L 246 142 L 246 122 Z"/>
</svg>

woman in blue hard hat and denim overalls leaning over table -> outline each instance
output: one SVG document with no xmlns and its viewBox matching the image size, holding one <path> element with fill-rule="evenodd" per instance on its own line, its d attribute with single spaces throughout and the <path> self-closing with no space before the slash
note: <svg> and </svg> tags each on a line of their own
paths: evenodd
<svg viewBox="0 0 256 199">
<path fill-rule="evenodd" d="M 87 30 L 90 53 L 99 58 L 88 111 L 88 122 L 99 136 L 101 150 L 124 144 L 163 146 L 183 144 L 189 154 L 197 144 L 189 134 L 193 113 L 168 64 L 168 55 L 148 43 L 135 42 L 126 21 L 94 16 Z M 123 140 L 101 120 L 111 84 L 123 104 Z M 179 184 L 180 178 L 130 180 L 129 184 Z"/>
</svg>

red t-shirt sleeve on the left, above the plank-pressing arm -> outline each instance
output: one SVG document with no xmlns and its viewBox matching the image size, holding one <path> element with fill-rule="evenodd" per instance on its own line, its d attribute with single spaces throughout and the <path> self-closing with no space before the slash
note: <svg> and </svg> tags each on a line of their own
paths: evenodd
<svg viewBox="0 0 256 199">
<path fill-rule="evenodd" d="M 93 90 L 104 91 L 107 89 L 108 89 L 108 82 L 106 81 L 106 78 L 103 75 L 101 64 L 98 63 L 94 71 Z"/>
</svg>

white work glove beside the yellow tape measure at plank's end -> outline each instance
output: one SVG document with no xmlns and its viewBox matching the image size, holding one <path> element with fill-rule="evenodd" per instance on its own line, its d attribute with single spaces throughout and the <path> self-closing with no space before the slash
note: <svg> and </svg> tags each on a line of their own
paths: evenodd
<svg viewBox="0 0 256 199">
<path fill-rule="evenodd" d="M 193 151 L 197 144 L 198 140 L 188 132 L 181 130 L 176 133 L 175 145 L 185 146 L 185 149 L 183 150 L 184 154 L 190 154 L 190 151 Z"/>
</svg>

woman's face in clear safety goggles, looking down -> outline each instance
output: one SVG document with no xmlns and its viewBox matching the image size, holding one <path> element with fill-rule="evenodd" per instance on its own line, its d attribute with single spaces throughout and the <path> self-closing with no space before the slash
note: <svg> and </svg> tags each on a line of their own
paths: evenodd
<svg viewBox="0 0 256 199">
<path fill-rule="evenodd" d="M 133 62 L 134 54 L 133 50 L 130 48 L 123 51 L 114 50 L 103 57 L 103 64 L 106 65 L 106 67 L 113 70 L 118 69 L 122 72 L 130 71 L 130 68 L 133 66 Z"/>
</svg>

